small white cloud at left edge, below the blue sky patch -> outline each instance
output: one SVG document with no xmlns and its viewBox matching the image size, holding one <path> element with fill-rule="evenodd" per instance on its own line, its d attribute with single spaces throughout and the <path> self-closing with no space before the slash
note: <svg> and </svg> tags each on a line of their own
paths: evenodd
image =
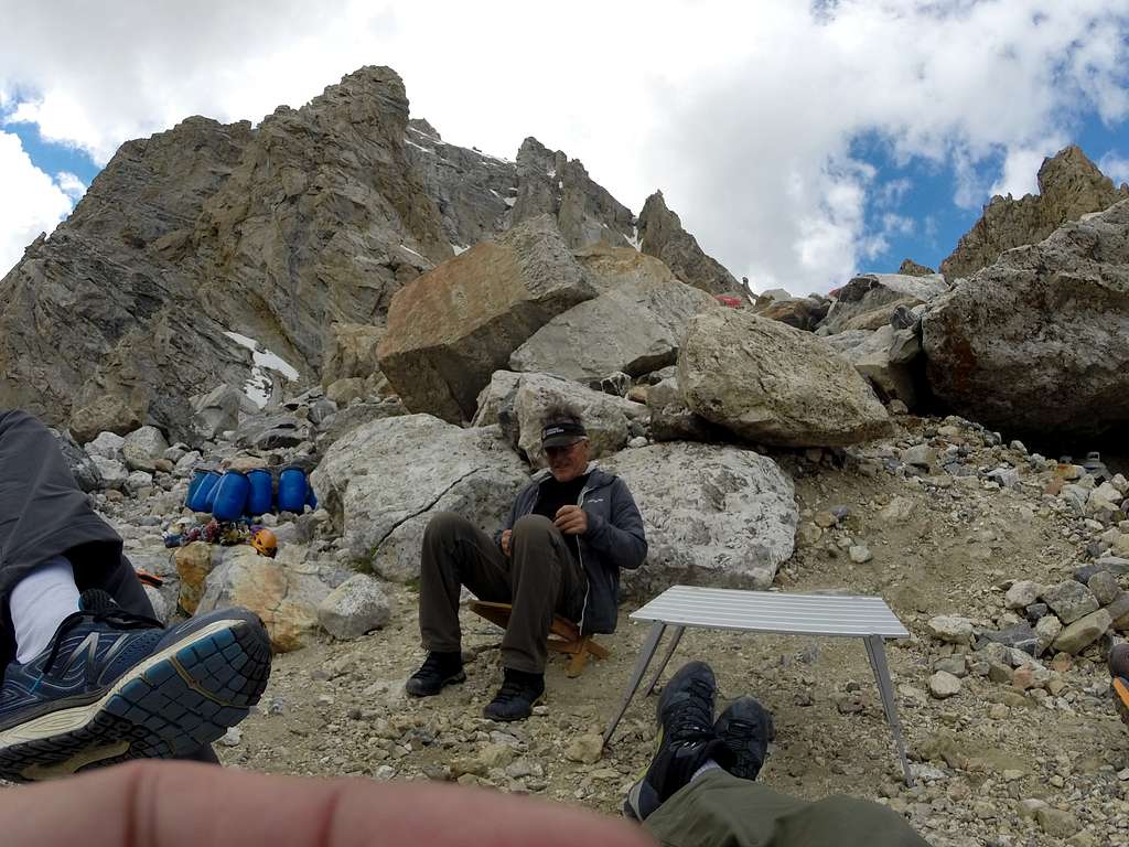
<svg viewBox="0 0 1129 847">
<path fill-rule="evenodd" d="M 70 198 L 52 178 L 32 164 L 19 137 L 0 132 L 0 277 L 12 269 L 24 248 L 50 233 L 71 210 Z M 18 198 L 9 202 L 7 198 Z"/>
</svg>

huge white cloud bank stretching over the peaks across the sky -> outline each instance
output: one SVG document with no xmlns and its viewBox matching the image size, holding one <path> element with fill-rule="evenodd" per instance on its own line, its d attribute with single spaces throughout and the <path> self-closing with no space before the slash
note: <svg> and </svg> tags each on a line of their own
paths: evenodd
<svg viewBox="0 0 1129 847">
<path fill-rule="evenodd" d="M 535 134 L 637 210 L 662 187 L 735 274 L 790 290 L 838 285 L 891 234 L 867 209 L 905 190 L 851 160 L 858 133 L 953 168 L 979 209 L 1026 190 L 1083 115 L 1129 116 L 1124 0 L 588 6 L 8 3 L 0 101 L 105 161 L 186 115 L 254 121 L 388 64 L 445 138 L 513 157 Z"/>
</svg>

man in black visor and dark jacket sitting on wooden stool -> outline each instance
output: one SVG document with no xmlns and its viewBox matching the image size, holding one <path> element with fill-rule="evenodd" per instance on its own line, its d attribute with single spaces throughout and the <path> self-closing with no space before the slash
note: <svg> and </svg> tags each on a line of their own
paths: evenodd
<svg viewBox="0 0 1129 847">
<path fill-rule="evenodd" d="M 545 690 L 546 639 L 553 614 L 583 632 L 615 630 L 620 568 L 647 558 L 642 518 L 627 483 L 588 462 L 580 413 L 546 410 L 541 446 L 549 469 L 533 478 L 509 512 L 497 541 L 470 521 L 436 515 L 423 535 L 420 634 L 427 661 L 408 693 L 430 697 L 462 682 L 458 596 L 514 606 L 501 643 L 505 680 L 485 716 L 520 721 Z"/>
</svg>

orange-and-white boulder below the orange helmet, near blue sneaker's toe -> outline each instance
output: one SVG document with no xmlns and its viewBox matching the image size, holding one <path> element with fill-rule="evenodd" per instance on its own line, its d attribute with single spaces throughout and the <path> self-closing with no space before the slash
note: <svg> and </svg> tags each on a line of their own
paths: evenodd
<svg viewBox="0 0 1129 847">
<path fill-rule="evenodd" d="M 330 587 L 303 566 L 260 556 L 246 544 L 221 548 L 222 558 L 205 582 L 196 612 L 243 606 L 257 614 L 275 653 L 299 649 L 317 635 L 317 606 Z"/>
</svg>

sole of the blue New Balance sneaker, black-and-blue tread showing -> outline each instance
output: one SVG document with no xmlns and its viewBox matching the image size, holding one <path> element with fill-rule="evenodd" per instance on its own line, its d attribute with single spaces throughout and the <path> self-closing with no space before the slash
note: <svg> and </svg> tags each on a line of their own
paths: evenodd
<svg viewBox="0 0 1129 847">
<path fill-rule="evenodd" d="M 146 657 L 94 702 L 0 732 L 0 778 L 37 781 L 194 752 L 247 716 L 266 688 L 270 662 L 262 626 L 215 621 Z"/>
</svg>

